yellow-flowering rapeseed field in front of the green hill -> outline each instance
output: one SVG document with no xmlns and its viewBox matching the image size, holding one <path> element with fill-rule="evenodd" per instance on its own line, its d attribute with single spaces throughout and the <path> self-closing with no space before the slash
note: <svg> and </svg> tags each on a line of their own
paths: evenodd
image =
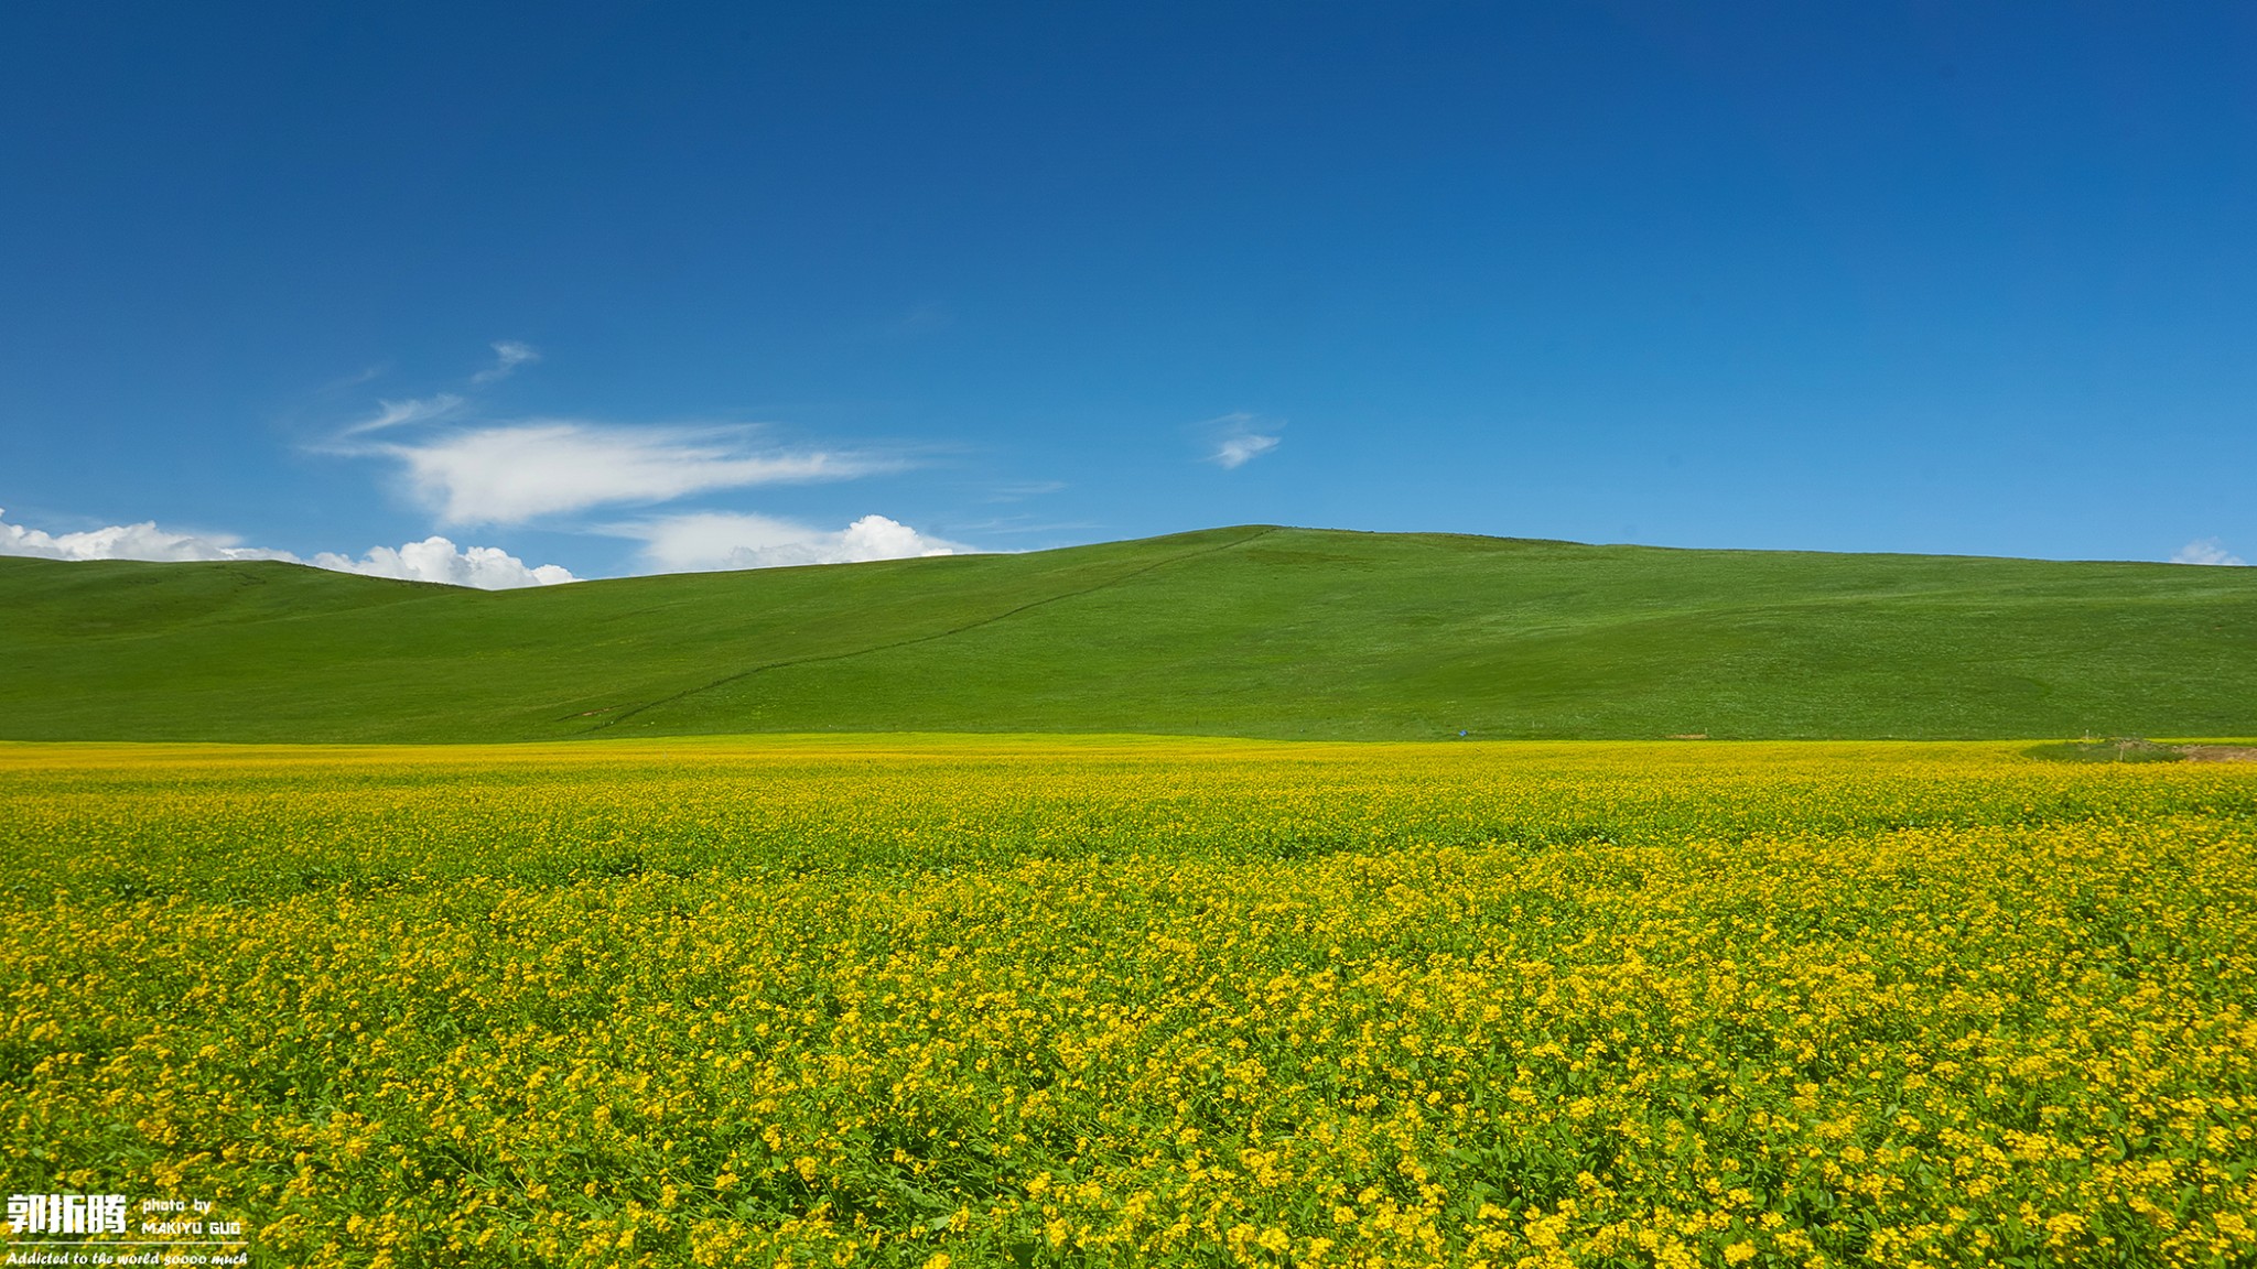
<svg viewBox="0 0 2257 1269">
<path fill-rule="evenodd" d="M 2257 768 L 0 745 L 11 1192 L 255 1264 L 2257 1264 Z"/>
</svg>

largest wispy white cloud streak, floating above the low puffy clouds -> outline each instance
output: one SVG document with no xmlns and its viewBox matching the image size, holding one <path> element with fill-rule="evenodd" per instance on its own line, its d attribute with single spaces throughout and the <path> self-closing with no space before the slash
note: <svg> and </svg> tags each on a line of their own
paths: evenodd
<svg viewBox="0 0 2257 1269">
<path fill-rule="evenodd" d="M 858 454 L 756 454 L 743 445 L 743 431 L 535 420 L 377 452 L 406 463 L 415 492 L 449 524 L 521 524 L 605 504 L 842 481 L 898 465 Z"/>
</svg>

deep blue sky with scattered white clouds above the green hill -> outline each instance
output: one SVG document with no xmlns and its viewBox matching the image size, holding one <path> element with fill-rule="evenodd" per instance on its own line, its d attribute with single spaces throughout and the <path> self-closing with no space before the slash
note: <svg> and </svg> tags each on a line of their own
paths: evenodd
<svg viewBox="0 0 2257 1269">
<path fill-rule="evenodd" d="M 2250 65 L 2248 5 L 14 5 L 0 551 L 2257 558 Z"/>
</svg>

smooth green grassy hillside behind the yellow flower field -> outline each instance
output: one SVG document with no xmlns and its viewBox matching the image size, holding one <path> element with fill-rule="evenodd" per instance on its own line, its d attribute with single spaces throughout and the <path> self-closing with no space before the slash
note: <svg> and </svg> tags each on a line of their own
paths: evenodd
<svg viewBox="0 0 2257 1269">
<path fill-rule="evenodd" d="M 0 560 L 0 736 L 2257 729 L 2257 569 L 1217 528 L 465 592 Z"/>
</svg>

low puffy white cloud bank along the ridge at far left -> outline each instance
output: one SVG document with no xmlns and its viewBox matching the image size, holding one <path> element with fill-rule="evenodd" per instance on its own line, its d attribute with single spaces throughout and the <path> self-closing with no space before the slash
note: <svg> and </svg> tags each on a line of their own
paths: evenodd
<svg viewBox="0 0 2257 1269">
<path fill-rule="evenodd" d="M 515 589 L 533 585 L 555 585 L 576 580 L 557 565 L 526 567 L 517 555 L 499 546 L 456 549 L 445 537 L 409 542 L 397 551 L 375 546 L 359 560 L 323 551 L 311 560 L 300 560 L 289 551 L 262 546 L 237 546 L 235 537 L 208 537 L 194 533 L 169 533 L 153 522 L 113 524 L 86 533 L 43 533 L 20 524 L 0 522 L 0 555 L 34 555 L 41 560 L 280 560 L 284 565 L 311 565 L 339 574 L 363 574 L 372 578 L 399 578 L 415 583 L 447 583 L 478 589 Z"/>
</svg>

